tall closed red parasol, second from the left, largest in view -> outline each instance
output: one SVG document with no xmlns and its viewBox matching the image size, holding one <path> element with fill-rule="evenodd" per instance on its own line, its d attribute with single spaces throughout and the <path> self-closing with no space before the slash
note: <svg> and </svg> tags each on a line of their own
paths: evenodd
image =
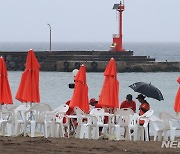
<svg viewBox="0 0 180 154">
<path fill-rule="evenodd" d="M 16 93 L 16 99 L 21 102 L 40 102 L 39 94 L 39 68 L 34 51 L 28 51 L 26 68 L 22 74 L 21 82 Z"/>
</svg>

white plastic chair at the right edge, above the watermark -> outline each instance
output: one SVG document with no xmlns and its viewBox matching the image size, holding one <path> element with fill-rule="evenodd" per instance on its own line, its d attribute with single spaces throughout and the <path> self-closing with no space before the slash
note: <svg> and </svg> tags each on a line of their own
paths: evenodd
<svg viewBox="0 0 180 154">
<path fill-rule="evenodd" d="M 172 115 L 162 112 L 159 114 L 160 119 L 163 123 L 164 130 L 164 140 L 168 140 L 168 131 L 170 133 L 170 140 L 174 141 L 176 136 L 176 131 L 180 130 L 180 126 L 175 126 L 175 123 L 179 125 L 179 119 L 173 117 Z"/>
</svg>

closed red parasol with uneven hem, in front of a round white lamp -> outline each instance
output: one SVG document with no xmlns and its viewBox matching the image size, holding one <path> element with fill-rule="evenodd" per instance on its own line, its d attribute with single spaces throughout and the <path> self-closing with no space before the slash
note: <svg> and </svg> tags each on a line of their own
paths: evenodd
<svg viewBox="0 0 180 154">
<path fill-rule="evenodd" d="M 69 104 L 73 108 L 77 106 L 86 113 L 89 113 L 88 86 L 86 83 L 86 67 L 81 65 L 76 77 L 74 93 Z"/>
</svg>

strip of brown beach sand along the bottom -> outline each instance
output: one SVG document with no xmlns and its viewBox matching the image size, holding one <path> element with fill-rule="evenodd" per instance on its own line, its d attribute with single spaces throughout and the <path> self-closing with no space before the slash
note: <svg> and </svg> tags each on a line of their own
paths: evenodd
<svg viewBox="0 0 180 154">
<path fill-rule="evenodd" d="M 180 153 L 180 148 L 161 148 L 162 142 L 109 141 L 75 138 L 0 137 L 2 154 L 105 154 L 105 153 Z"/>
</svg>

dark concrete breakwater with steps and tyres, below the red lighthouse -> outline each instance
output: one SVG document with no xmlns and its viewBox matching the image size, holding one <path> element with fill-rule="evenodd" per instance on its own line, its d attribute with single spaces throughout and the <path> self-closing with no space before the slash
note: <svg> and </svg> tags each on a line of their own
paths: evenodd
<svg viewBox="0 0 180 154">
<path fill-rule="evenodd" d="M 35 54 L 41 71 L 71 72 L 84 64 L 88 72 L 103 72 L 112 57 L 118 72 L 180 71 L 180 62 L 156 62 L 148 56 L 133 56 L 133 51 L 38 51 Z M 0 52 L 0 56 L 4 57 L 8 70 L 24 70 L 27 52 Z"/>
</svg>

